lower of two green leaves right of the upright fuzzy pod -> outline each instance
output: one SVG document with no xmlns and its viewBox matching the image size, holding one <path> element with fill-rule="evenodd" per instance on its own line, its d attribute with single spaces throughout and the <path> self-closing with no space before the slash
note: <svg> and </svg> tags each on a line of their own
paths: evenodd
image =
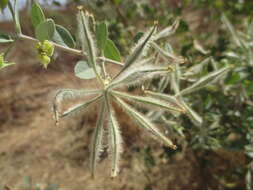
<svg viewBox="0 0 253 190">
<path fill-rule="evenodd" d="M 106 41 L 104 55 L 106 58 L 119 61 L 119 62 L 121 61 L 120 52 L 118 48 L 115 46 L 114 42 L 110 39 L 107 39 Z"/>
</svg>

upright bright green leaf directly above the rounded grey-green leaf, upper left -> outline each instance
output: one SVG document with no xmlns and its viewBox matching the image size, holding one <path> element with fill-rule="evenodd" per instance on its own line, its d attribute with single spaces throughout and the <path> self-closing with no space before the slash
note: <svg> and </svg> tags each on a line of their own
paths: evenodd
<svg viewBox="0 0 253 190">
<path fill-rule="evenodd" d="M 32 5 L 31 20 L 34 28 L 36 28 L 40 23 L 46 20 L 43 10 L 41 9 L 39 3 L 35 2 Z"/>
</svg>

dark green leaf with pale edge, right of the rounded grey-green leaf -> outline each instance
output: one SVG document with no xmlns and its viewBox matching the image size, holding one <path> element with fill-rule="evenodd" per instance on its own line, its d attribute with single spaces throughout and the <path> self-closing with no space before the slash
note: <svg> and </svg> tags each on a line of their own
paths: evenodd
<svg viewBox="0 0 253 190">
<path fill-rule="evenodd" d="M 76 43 L 70 34 L 70 32 L 64 28 L 63 26 L 60 26 L 58 24 L 55 25 L 55 33 L 53 37 L 53 41 L 57 44 L 68 46 L 70 48 L 74 48 L 76 46 Z"/>
</svg>

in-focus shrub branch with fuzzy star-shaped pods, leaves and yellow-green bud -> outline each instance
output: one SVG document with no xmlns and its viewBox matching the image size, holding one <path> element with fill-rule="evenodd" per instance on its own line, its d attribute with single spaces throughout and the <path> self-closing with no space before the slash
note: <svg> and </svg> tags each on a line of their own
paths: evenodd
<svg viewBox="0 0 253 190">
<path fill-rule="evenodd" d="M 212 72 L 199 77 L 198 74 L 206 64 L 205 61 L 188 68 L 184 64 L 185 59 L 177 56 L 172 48 L 162 41 L 175 32 L 179 25 L 178 19 L 161 31 L 157 29 L 158 23 L 154 22 L 154 25 L 146 33 L 138 34 L 139 40 L 135 47 L 132 48 L 129 56 L 122 60 L 119 50 L 108 37 L 106 23 L 97 24 L 93 15 L 83 11 L 82 7 L 78 7 L 78 35 L 75 41 L 67 29 L 55 24 L 53 19 L 47 19 L 36 2 L 31 9 L 31 22 L 36 38 L 23 34 L 17 3 L 17 0 L 14 1 L 14 4 L 8 2 L 16 33 L 14 35 L 2 34 L 0 42 L 13 43 L 18 39 L 35 42 L 38 58 L 44 68 L 48 67 L 54 49 L 62 49 L 81 55 L 83 60 L 76 64 L 75 75 L 84 80 L 95 78 L 99 84 L 98 89 L 60 89 L 55 93 L 52 103 L 56 124 L 61 118 L 89 109 L 91 104 L 99 104 L 100 111 L 90 146 L 90 165 L 93 177 L 100 153 L 104 150 L 106 134 L 108 134 L 107 143 L 111 157 L 111 176 L 117 176 L 119 171 L 118 163 L 123 148 L 115 105 L 121 107 L 131 119 L 157 140 L 176 149 L 176 145 L 153 124 L 152 120 L 155 121 L 155 118 L 161 117 L 167 124 L 168 119 L 178 118 L 184 114 L 190 118 L 194 125 L 201 127 L 203 120 L 189 106 L 190 102 L 186 96 L 218 81 L 230 70 L 230 67 L 226 65 L 215 67 Z M 1 4 L 2 8 L 5 6 L 5 3 Z M 8 52 L 9 49 L 1 54 L 1 69 L 13 64 L 4 60 Z M 117 65 L 121 69 L 112 76 L 107 71 L 108 64 Z M 181 81 L 187 81 L 184 88 L 181 86 Z M 139 88 L 140 94 L 134 95 L 125 92 L 126 87 L 132 86 Z M 167 86 L 171 88 L 170 95 L 164 93 Z M 87 97 L 90 98 L 87 100 Z M 85 101 L 63 110 L 62 103 L 75 98 L 83 98 Z M 138 110 L 136 105 L 139 104 L 147 109 Z M 155 108 L 159 110 L 157 113 Z M 151 119 L 147 117 L 145 110 L 151 110 L 148 112 L 151 114 Z"/>
</svg>

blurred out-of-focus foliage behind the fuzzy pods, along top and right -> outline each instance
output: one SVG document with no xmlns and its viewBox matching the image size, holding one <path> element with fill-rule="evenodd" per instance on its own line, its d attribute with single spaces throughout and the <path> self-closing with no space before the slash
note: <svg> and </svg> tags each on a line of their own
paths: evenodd
<svg viewBox="0 0 253 190">
<path fill-rule="evenodd" d="M 54 0 L 45 1 L 45 7 L 47 3 L 65 7 L 63 11 L 47 9 L 47 14 L 72 33 L 77 5 L 84 5 L 98 21 L 106 20 L 110 38 L 122 55 L 128 54 L 128 47 L 138 39 L 136 34 L 155 20 L 164 28 L 180 18 L 176 33 L 164 44 L 171 44 L 177 54 L 184 56 L 187 67 L 200 65 L 195 67 L 201 71 L 195 78 L 224 65 L 234 69 L 216 85 L 188 97 L 204 124 L 195 127 L 185 117 L 168 123 L 180 148 L 171 151 L 164 147 L 161 157 L 170 159 L 177 152 L 192 149 L 210 177 L 206 181 L 208 189 L 253 189 L 252 0 L 69 0 L 65 5 Z M 171 93 L 170 87 L 164 92 Z M 135 151 L 140 153 L 147 170 L 156 165 L 148 145 Z M 214 159 L 217 156 L 221 161 Z"/>
</svg>

